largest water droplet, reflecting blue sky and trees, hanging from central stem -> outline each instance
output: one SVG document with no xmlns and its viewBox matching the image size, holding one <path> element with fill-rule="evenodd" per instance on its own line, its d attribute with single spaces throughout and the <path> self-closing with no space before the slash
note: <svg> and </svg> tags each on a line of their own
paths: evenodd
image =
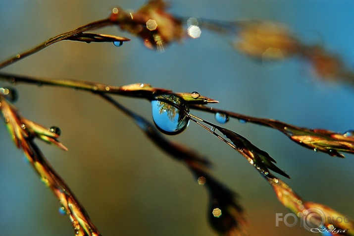
<svg viewBox="0 0 354 236">
<path fill-rule="evenodd" d="M 152 118 L 156 127 L 163 133 L 173 135 L 182 132 L 189 124 L 186 101 L 175 95 L 159 95 L 152 100 Z M 163 102 L 166 101 L 166 102 Z M 172 104 L 175 104 L 173 106 Z M 178 108 L 177 108 L 178 107 Z"/>
</svg>

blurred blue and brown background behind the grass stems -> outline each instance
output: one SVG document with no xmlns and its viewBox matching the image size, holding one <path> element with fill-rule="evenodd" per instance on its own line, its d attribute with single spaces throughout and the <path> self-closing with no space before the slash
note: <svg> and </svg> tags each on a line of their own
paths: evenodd
<svg viewBox="0 0 354 236">
<path fill-rule="evenodd" d="M 145 1 L 0 0 L 0 60 L 45 40 L 107 17 L 114 6 L 137 10 Z M 354 68 L 354 1 L 170 0 L 179 16 L 216 20 L 267 19 L 287 24 L 307 43 L 318 43 Z M 28 76 L 73 78 L 110 85 L 151 83 L 175 92 L 198 91 L 218 100 L 216 108 L 275 118 L 310 128 L 354 129 L 354 88 L 324 82 L 300 59 L 265 66 L 232 48 L 230 38 L 202 30 L 198 39 L 172 44 L 164 53 L 147 49 L 139 38 L 122 47 L 111 43 L 60 42 L 2 71 Z M 12 86 L 0 81 L 0 86 Z M 145 137 L 124 114 L 99 97 L 66 88 L 18 84 L 15 104 L 35 122 L 61 128 L 64 152 L 38 141 L 54 169 L 85 206 L 103 236 L 215 235 L 207 224 L 204 187 L 181 164 Z M 117 97 L 152 120 L 145 100 Z M 192 112 L 215 122 L 210 114 Z M 354 156 L 332 158 L 304 149 L 283 134 L 230 120 L 225 127 L 267 151 L 292 178 L 282 179 L 308 201 L 354 218 Z M 1 235 L 73 235 L 69 219 L 0 124 Z M 213 174 L 240 195 L 252 236 L 311 235 L 297 224 L 275 227 L 275 214 L 289 213 L 272 188 L 236 151 L 195 123 L 168 137 L 198 150 L 214 163 Z"/>
</svg>

